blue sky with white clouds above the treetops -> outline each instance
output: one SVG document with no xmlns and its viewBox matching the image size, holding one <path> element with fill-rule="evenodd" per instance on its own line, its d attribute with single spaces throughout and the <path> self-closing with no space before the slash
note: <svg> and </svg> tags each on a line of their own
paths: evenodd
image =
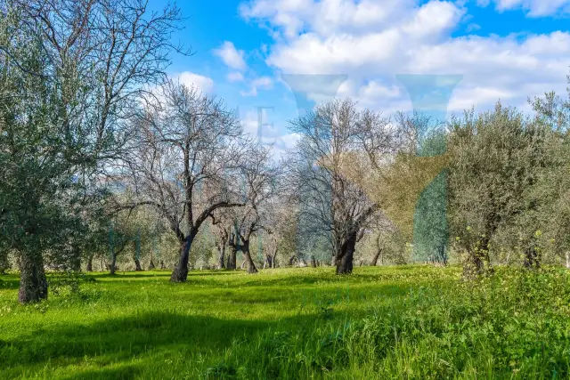
<svg viewBox="0 0 570 380">
<path fill-rule="evenodd" d="M 151 0 L 151 8 L 162 5 Z M 570 0 L 178 5 L 188 20 L 175 39 L 195 53 L 174 56 L 170 75 L 239 108 L 249 133 L 257 133 L 262 112 L 262 123 L 273 124 L 262 126 L 263 141 L 274 142 L 278 153 L 297 138 L 287 129 L 287 121 L 298 115 L 293 91 L 311 101 L 351 96 L 361 107 L 387 116 L 412 108 L 410 94 L 396 77 L 401 74 L 460 76 L 447 107 L 454 113 L 472 106 L 488 109 L 499 99 L 529 110 L 528 96 L 566 92 Z M 305 77 L 286 84 L 283 74 Z M 325 82 L 306 77 L 322 74 L 333 77 Z"/>
</svg>

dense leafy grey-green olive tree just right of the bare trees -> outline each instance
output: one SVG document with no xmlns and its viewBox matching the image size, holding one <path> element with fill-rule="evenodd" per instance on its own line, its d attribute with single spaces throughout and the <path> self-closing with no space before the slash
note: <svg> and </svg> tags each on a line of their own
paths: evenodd
<svg viewBox="0 0 570 380">
<path fill-rule="evenodd" d="M 452 119 L 449 210 L 456 245 L 467 254 L 467 275 L 492 270 L 493 238 L 517 225 L 525 261 L 535 263 L 536 230 L 528 218 L 536 205 L 526 202 L 525 193 L 548 166 L 548 133 L 500 102 L 493 110 Z"/>
</svg>

